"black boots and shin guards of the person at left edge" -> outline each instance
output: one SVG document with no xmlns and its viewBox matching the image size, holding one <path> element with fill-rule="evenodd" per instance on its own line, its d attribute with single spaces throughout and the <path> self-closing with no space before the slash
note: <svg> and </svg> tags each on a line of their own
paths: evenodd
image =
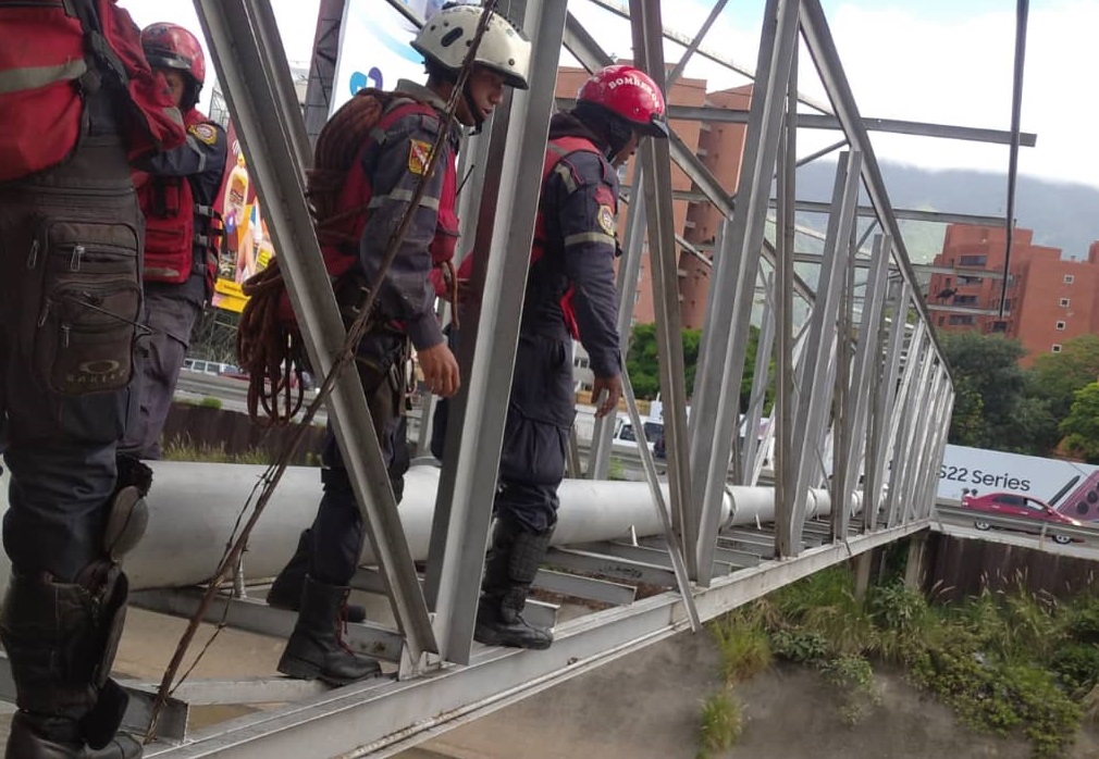
<svg viewBox="0 0 1099 759">
<path fill-rule="evenodd" d="M 9 759 L 134 759 L 141 745 L 118 729 L 129 695 L 109 678 L 125 620 L 127 583 L 112 562 L 78 582 L 13 573 L 0 637 L 20 711 Z"/>
</svg>

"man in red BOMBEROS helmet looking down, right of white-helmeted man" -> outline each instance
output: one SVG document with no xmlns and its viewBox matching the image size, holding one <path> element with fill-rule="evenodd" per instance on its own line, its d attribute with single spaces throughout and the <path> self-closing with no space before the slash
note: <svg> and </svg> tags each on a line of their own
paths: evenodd
<svg viewBox="0 0 1099 759">
<path fill-rule="evenodd" d="M 557 523 L 557 488 L 575 414 L 573 339 L 591 357 L 597 416 L 622 394 L 614 288 L 618 167 L 646 136 L 666 137 L 664 96 L 632 66 L 609 66 L 554 114 L 542 171 L 531 269 L 500 457 L 496 526 L 474 637 L 546 648 L 550 629 L 522 615 Z"/>
</svg>

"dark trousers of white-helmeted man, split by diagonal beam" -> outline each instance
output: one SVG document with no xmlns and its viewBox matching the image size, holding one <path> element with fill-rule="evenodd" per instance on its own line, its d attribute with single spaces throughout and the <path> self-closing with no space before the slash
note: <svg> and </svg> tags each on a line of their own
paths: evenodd
<svg viewBox="0 0 1099 759">
<path fill-rule="evenodd" d="M 359 344 L 355 362 L 398 503 L 409 468 L 404 426 L 407 341 L 395 332 L 367 334 Z M 346 585 L 363 551 L 363 518 L 331 426 L 321 461 L 324 494 L 310 535 L 309 573 L 318 582 Z"/>
</svg>

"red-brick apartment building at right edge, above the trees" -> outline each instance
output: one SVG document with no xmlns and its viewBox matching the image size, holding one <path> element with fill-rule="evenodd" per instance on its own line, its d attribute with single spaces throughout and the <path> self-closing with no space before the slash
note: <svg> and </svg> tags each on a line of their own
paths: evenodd
<svg viewBox="0 0 1099 759">
<path fill-rule="evenodd" d="M 1099 333 L 1099 242 L 1086 260 L 1065 260 L 1061 249 L 1034 245 L 1031 230 L 1015 228 L 1004 298 L 998 313 L 1007 233 L 1002 227 L 951 224 L 934 266 L 956 269 L 935 274 L 928 289 L 935 327 L 943 332 L 1002 332 L 1026 349 L 1024 365 L 1058 353 L 1065 341 Z"/>
</svg>

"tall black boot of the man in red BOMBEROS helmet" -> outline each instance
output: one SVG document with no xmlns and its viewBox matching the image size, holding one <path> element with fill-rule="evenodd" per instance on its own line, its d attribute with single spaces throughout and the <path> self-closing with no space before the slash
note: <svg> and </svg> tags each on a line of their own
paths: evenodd
<svg viewBox="0 0 1099 759">
<path fill-rule="evenodd" d="M 553 527 L 531 533 L 511 520 L 497 521 L 485 562 L 474 640 L 487 646 L 535 649 L 553 644 L 553 630 L 535 627 L 523 618 L 526 594 L 552 536 Z"/>
</svg>

